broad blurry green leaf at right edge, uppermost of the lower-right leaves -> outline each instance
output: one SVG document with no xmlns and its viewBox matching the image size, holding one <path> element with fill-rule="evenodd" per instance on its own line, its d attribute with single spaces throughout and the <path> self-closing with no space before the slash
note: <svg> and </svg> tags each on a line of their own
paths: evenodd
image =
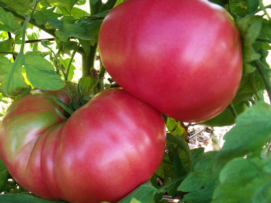
<svg viewBox="0 0 271 203">
<path fill-rule="evenodd" d="M 245 155 L 260 154 L 271 137 L 271 106 L 258 102 L 236 118 L 236 126 L 225 134 L 225 143 L 217 154 L 215 168 Z"/>
</svg>

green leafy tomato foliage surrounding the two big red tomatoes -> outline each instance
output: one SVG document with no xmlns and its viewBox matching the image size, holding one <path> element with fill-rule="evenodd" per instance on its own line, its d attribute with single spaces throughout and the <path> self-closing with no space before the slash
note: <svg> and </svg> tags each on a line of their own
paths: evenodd
<svg viewBox="0 0 271 203">
<path fill-rule="evenodd" d="M 61 89 L 63 80 L 79 80 L 85 95 L 116 85 L 110 77 L 105 79 L 97 39 L 103 18 L 122 2 L 0 0 L 2 114 L 4 104 L 32 88 Z M 162 164 L 150 181 L 121 203 L 163 203 L 164 194 L 188 203 L 271 202 L 271 107 L 263 102 L 264 90 L 271 96 L 271 73 L 266 61 L 271 43 L 267 11 L 271 5 L 264 6 L 261 0 L 212 2 L 229 12 L 240 31 L 244 74 L 232 103 L 245 101 L 250 107 L 238 115 L 236 126 L 225 135 L 224 146 L 218 152 L 190 150 L 184 124 L 165 118 L 168 133 Z M 12 179 L 1 161 L 0 192 L 1 202 L 63 202 L 29 194 Z"/>
</svg>

